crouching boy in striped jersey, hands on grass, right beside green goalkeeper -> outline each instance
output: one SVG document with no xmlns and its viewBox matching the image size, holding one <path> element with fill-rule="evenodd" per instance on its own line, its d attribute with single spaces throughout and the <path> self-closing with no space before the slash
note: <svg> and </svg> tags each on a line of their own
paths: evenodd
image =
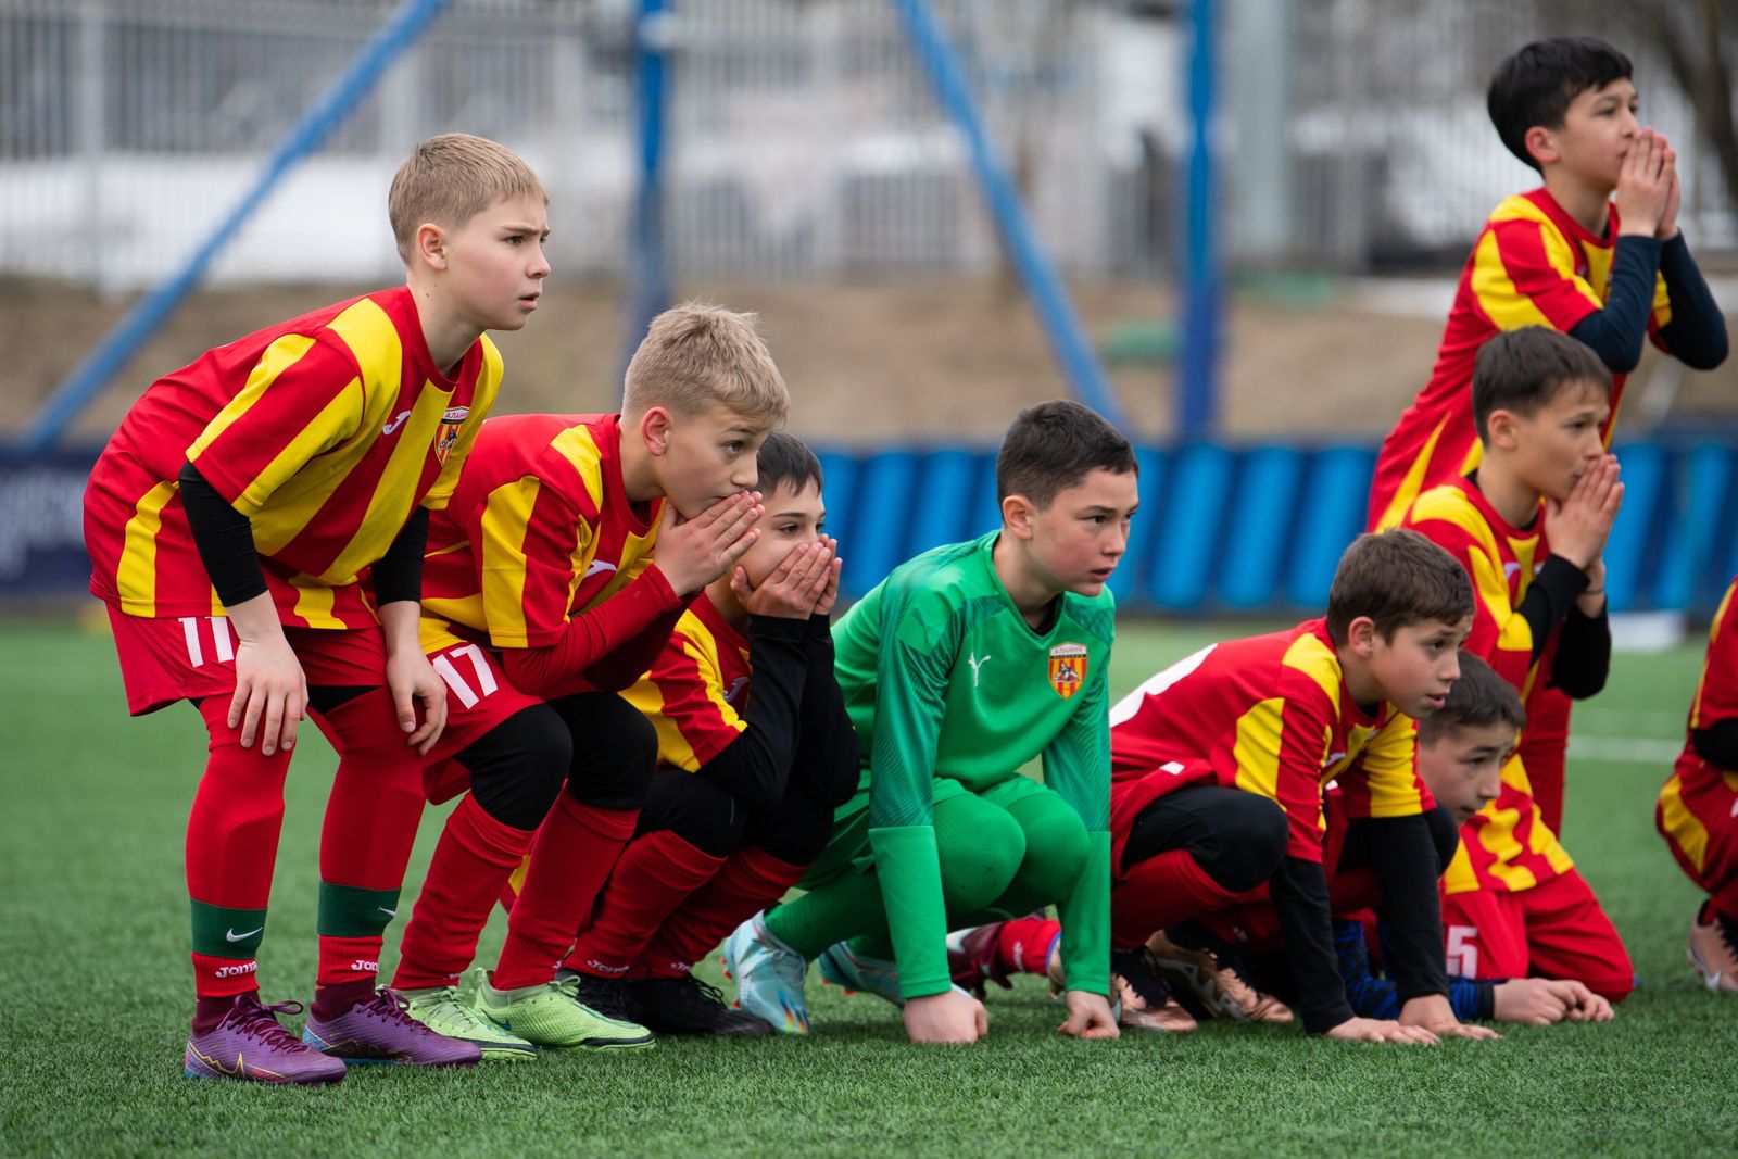
<svg viewBox="0 0 1738 1159">
<path fill-rule="evenodd" d="M 1472 591 L 1448 553 L 1413 532 L 1364 535 L 1340 558 L 1326 617 L 1203 648 L 1111 711 L 1112 973 L 1124 1025 L 1191 1029 L 1149 938 L 1258 900 L 1265 886 L 1307 1032 L 1489 1036 L 1448 1004 L 1432 805 L 1415 775 L 1413 718 L 1448 697 L 1470 620 Z M 1330 780 L 1349 817 L 1338 857 L 1323 848 Z M 1359 1018 L 1345 999 L 1328 878 L 1354 862 L 1375 871 L 1396 916 L 1397 1022 Z"/>
</svg>

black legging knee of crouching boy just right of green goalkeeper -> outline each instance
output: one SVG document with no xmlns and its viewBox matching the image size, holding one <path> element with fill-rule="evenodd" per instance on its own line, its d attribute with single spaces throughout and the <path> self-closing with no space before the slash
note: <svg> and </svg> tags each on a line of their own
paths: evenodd
<svg viewBox="0 0 1738 1159">
<path fill-rule="evenodd" d="M 1222 785 L 1184 785 L 1140 810 L 1123 846 L 1128 871 L 1159 853 L 1187 850 L 1231 893 L 1253 890 L 1286 855 L 1286 815 L 1277 803 Z"/>
</svg>

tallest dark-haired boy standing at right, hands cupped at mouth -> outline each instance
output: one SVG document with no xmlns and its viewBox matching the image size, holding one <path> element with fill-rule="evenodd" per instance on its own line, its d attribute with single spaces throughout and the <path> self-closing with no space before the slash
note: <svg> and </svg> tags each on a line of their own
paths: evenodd
<svg viewBox="0 0 1738 1159">
<path fill-rule="evenodd" d="M 1503 144 L 1543 186 L 1507 198 L 1474 242 L 1430 382 L 1376 459 L 1371 530 L 1396 527 L 1418 495 L 1479 464 L 1469 384 L 1493 334 L 1543 325 L 1585 342 L 1615 375 L 1611 419 L 1644 337 L 1696 370 L 1726 358 L 1726 321 L 1677 228 L 1677 158 L 1635 120 L 1629 59 L 1587 36 L 1540 40 L 1502 63 L 1488 104 Z M 1568 735 L 1568 697 L 1529 700 L 1522 758 L 1556 831 L 1562 766 L 1550 758 Z"/>
</svg>

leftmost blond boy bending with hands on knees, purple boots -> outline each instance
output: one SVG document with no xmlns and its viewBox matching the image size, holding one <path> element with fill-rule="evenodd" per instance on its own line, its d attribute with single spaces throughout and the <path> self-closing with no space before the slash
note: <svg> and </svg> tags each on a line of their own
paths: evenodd
<svg viewBox="0 0 1738 1159">
<path fill-rule="evenodd" d="M 474 1062 L 375 994 L 445 690 L 417 643 L 422 540 L 549 266 L 546 196 L 507 149 L 417 146 L 389 196 L 407 285 L 269 327 L 155 382 L 85 492 L 90 591 L 134 714 L 191 700 L 210 756 L 188 820 L 189 1076 L 325 1083 L 344 1065 L 261 1006 L 255 950 L 308 712 L 339 752 L 304 1037 L 339 1058 Z M 422 705 L 417 719 L 415 702 Z M 257 747 L 255 747 L 257 740 Z"/>
</svg>

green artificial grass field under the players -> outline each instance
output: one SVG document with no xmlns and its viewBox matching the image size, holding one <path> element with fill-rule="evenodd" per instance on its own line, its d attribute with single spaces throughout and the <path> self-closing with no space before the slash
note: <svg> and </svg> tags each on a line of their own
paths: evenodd
<svg viewBox="0 0 1738 1159">
<path fill-rule="evenodd" d="M 1124 626 L 1116 692 L 1217 634 Z M 1434 1050 L 1215 1023 L 1078 1043 L 1055 1037 L 1060 1008 L 1029 978 L 992 992 L 985 1043 L 916 1050 L 892 1008 L 812 982 L 808 1039 L 664 1041 L 452 1074 L 363 1069 L 332 1089 L 181 1077 L 196 716 L 129 721 L 108 639 L 70 622 L 0 626 L 0 1154 L 1738 1150 L 1738 1001 L 1703 990 L 1684 963 L 1696 893 L 1653 832 L 1695 646 L 1620 655 L 1575 721 L 1564 843 L 1642 980 L 1609 1025 L 1510 1027 L 1500 1043 Z M 335 761 L 313 728 L 302 737 L 262 949 L 268 1001 L 313 987 L 315 850 Z M 405 902 L 438 831 L 431 815 Z M 483 954 L 499 942 L 497 917 Z"/>
</svg>

